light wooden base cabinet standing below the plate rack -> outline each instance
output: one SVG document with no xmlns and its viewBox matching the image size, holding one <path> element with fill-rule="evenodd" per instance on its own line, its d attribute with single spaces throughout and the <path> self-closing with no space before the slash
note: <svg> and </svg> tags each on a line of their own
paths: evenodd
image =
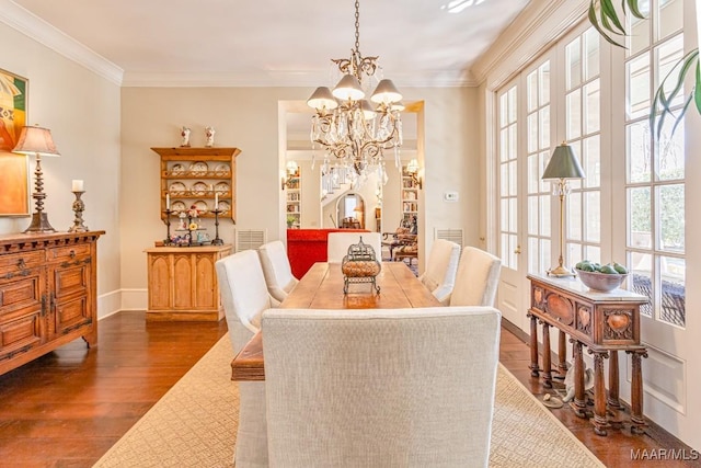
<svg viewBox="0 0 701 468">
<path fill-rule="evenodd" d="M 147 249 L 149 304 L 147 320 L 219 321 L 223 306 L 215 263 L 231 246 Z"/>
</svg>

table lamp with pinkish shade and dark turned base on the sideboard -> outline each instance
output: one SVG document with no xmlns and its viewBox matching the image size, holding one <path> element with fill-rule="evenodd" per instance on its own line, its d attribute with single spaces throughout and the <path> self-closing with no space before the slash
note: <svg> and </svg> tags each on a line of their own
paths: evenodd
<svg viewBox="0 0 701 468">
<path fill-rule="evenodd" d="M 32 214 L 32 224 L 24 232 L 55 232 L 56 229 L 48 222 L 46 213 L 44 213 L 44 198 L 46 198 L 46 194 L 43 190 L 44 180 L 42 172 L 42 156 L 60 156 L 51 138 L 51 130 L 39 126 L 22 127 L 20 140 L 12 152 L 36 156 L 36 169 L 34 170 L 36 190 L 32 194 L 36 212 Z"/>
</svg>

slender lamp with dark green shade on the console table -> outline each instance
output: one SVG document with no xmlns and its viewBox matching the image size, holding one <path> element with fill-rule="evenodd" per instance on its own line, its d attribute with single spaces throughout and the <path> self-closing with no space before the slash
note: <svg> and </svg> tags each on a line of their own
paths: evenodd
<svg viewBox="0 0 701 468">
<path fill-rule="evenodd" d="M 572 147 L 563 141 L 562 145 L 555 148 L 541 178 L 542 180 L 558 180 L 556 183 L 552 182 L 552 193 L 560 197 L 560 259 L 559 265 L 548 271 L 551 276 L 574 276 L 572 270 L 563 266 L 562 256 L 562 246 L 565 238 L 565 195 L 570 193 L 567 180 L 584 178 L 584 170 L 579 165 Z"/>
</svg>

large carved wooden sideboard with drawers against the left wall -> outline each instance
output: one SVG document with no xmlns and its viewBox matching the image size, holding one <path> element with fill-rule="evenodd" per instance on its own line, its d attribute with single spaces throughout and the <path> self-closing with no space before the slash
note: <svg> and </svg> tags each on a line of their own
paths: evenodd
<svg viewBox="0 0 701 468">
<path fill-rule="evenodd" d="M 0 375 L 82 336 L 97 344 L 97 238 L 0 236 Z"/>
</svg>

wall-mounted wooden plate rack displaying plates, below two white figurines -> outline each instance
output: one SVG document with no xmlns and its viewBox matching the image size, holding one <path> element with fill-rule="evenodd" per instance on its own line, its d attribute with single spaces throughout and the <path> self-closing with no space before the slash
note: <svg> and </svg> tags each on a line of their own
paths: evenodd
<svg viewBox="0 0 701 468">
<path fill-rule="evenodd" d="M 195 207 L 198 217 L 235 219 L 238 148 L 151 148 L 161 157 L 161 219 L 165 209 L 177 217 Z"/>
</svg>

